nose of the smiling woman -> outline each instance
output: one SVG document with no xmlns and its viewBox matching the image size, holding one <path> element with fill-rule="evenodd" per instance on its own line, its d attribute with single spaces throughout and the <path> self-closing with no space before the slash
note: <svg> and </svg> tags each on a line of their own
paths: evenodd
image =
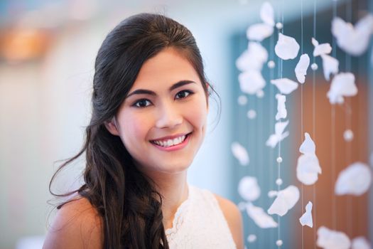
<svg viewBox="0 0 373 249">
<path fill-rule="evenodd" d="M 183 117 L 173 103 L 164 104 L 159 107 L 157 128 L 171 128 L 183 122 Z"/>
</svg>

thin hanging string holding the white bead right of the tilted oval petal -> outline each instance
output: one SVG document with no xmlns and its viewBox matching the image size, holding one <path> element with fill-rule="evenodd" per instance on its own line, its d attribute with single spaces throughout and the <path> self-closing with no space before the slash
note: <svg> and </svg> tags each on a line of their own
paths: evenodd
<svg viewBox="0 0 373 249">
<path fill-rule="evenodd" d="M 316 0 L 313 0 L 313 38 L 316 38 Z M 313 64 L 315 64 L 316 58 L 313 56 Z M 316 108 L 315 108 L 315 85 L 316 85 L 316 70 L 312 71 L 312 134 L 313 134 L 313 141 L 315 144 L 316 142 Z M 316 218 L 317 218 L 317 206 L 316 206 L 316 184 L 313 184 L 313 225 L 315 228 L 313 228 L 313 248 L 316 248 L 316 228 L 317 223 L 316 223 Z"/>
</svg>

